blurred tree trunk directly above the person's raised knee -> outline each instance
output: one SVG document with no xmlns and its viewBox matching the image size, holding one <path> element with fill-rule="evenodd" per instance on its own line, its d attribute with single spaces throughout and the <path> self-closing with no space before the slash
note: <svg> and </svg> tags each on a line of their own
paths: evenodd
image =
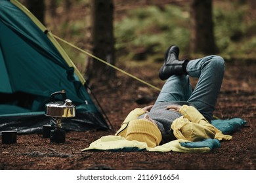
<svg viewBox="0 0 256 183">
<path fill-rule="evenodd" d="M 215 54 L 217 46 L 213 33 L 212 0 L 193 0 L 191 3 L 190 50 L 196 53 Z"/>
</svg>

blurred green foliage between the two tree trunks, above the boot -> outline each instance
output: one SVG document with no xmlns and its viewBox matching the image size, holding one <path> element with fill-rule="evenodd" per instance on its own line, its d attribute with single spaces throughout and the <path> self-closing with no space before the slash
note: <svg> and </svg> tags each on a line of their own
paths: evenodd
<svg viewBox="0 0 256 183">
<path fill-rule="evenodd" d="M 115 22 L 116 49 L 133 57 L 136 52 L 162 54 L 170 44 L 184 48 L 189 41 L 188 21 L 181 8 L 171 5 L 130 10 Z"/>
</svg>

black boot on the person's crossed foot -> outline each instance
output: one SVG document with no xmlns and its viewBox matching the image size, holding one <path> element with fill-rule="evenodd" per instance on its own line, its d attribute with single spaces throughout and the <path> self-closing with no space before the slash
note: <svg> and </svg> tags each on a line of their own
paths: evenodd
<svg viewBox="0 0 256 183">
<path fill-rule="evenodd" d="M 187 75 L 186 65 L 188 59 L 179 60 L 179 47 L 172 45 L 165 53 L 165 62 L 160 69 L 159 77 L 161 80 L 166 80 L 172 75 Z"/>
</svg>

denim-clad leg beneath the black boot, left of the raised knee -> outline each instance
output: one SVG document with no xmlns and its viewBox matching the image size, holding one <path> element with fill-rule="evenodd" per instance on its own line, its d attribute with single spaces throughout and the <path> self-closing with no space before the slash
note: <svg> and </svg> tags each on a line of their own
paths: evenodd
<svg viewBox="0 0 256 183">
<path fill-rule="evenodd" d="M 156 103 L 169 101 L 187 101 L 192 93 L 189 76 L 173 75 L 169 77 L 161 89 Z"/>
</svg>

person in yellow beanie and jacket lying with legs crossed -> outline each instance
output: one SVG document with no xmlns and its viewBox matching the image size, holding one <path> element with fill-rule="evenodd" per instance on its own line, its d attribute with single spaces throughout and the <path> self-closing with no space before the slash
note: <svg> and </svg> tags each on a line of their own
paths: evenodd
<svg viewBox="0 0 256 183">
<path fill-rule="evenodd" d="M 116 136 L 146 142 L 150 148 L 176 139 L 196 142 L 232 138 L 211 125 L 223 82 L 223 58 L 206 56 L 180 60 L 179 47 L 172 45 L 165 53 L 159 76 L 166 82 L 154 105 L 132 110 Z M 194 90 L 189 77 L 198 78 Z"/>
</svg>

